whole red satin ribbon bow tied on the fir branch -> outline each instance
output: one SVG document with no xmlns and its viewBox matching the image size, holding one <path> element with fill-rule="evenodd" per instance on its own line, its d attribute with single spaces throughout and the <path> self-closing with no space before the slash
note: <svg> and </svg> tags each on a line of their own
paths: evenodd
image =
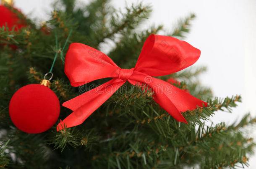
<svg viewBox="0 0 256 169">
<path fill-rule="evenodd" d="M 199 49 L 185 41 L 152 34 L 146 39 L 136 66 L 122 69 L 99 50 L 71 43 L 65 57 L 65 74 L 71 86 L 78 87 L 101 78 L 112 79 L 63 103 L 73 113 L 58 124 L 57 130 L 63 129 L 64 124 L 66 127 L 82 124 L 126 81 L 132 85 L 146 84 L 154 91 L 154 101 L 159 106 L 177 121 L 187 123 L 180 112 L 207 106 L 207 103 L 152 76 L 165 76 L 183 70 L 195 63 L 200 54 Z"/>
</svg>

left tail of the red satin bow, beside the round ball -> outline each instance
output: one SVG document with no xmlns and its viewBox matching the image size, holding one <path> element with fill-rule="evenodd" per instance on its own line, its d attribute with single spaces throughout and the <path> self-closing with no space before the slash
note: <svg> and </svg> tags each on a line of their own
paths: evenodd
<svg viewBox="0 0 256 169">
<path fill-rule="evenodd" d="M 63 106 L 73 110 L 73 113 L 57 125 L 57 131 L 63 129 L 64 124 L 67 128 L 82 124 L 99 106 L 107 101 L 123 83 L 125 83 L 124 80 L 113 78 L 101 86 L 63 103 Z"/>
</svg>

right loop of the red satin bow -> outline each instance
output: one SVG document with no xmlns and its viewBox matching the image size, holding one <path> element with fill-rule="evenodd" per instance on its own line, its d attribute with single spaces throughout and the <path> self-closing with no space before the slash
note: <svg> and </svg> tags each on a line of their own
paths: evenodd
<svg viewBox="0 0 256 169">
<path fill-rule="evenodd" d="M 136 63 L 136 71 L 150 76 L 165 76 L 193 65 L 199 49 L 189 43 L 163 35 L 149 35 Z"/>
</svg>

